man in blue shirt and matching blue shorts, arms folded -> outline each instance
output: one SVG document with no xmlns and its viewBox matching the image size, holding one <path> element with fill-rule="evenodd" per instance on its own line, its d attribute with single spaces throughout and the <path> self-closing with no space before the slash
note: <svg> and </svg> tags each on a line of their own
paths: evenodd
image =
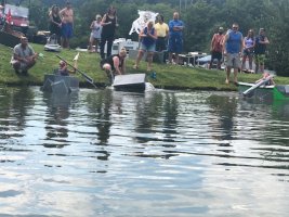
<svg viewBox="0 0 289 217">
<path fill-rule="evenodd" d="M 179 13 L 173 13 L 173 20 L 169 22 L 169 62 L 172 63 L 172 53 L 175 54 L 175 63 L 179 64 L 179 54 L 183 51 L 184 23 L 179 20 Z"/>
</svg>

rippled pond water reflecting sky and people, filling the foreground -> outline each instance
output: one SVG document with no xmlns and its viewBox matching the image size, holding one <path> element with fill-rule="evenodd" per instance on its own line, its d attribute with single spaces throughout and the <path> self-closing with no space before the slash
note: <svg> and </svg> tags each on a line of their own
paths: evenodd
<svg viewBox="0 0 289 217">
<path fill-rule="evenodd" d="M 289 105 L 0 90 L 0 216 L 288 216 Z"/>
</svg>

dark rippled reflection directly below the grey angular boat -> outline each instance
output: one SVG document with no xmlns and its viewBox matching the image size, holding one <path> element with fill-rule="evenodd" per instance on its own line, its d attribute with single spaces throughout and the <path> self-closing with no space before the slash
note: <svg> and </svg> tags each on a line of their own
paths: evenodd
<svg viewBox="0 0 289 217">
<path fill-rule="evenodd" d="M 45 148 L 63 148 L 68 145 L 67 118 L 69 117 L 69 106 L 71 94 L 43 93 L 43 99 L 48 104 L 48 119 L 45 120 L 47 142 Z"/>
</svg>

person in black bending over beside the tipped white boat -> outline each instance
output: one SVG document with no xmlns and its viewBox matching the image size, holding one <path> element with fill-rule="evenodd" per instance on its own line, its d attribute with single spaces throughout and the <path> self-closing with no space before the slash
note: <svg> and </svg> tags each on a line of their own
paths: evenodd
<svg viewBox="0 0 289 217">
<path fill-rule="evenodd" d="M 114 81 L 115 75 L 126 74 L 127 50 L 122 48 L 118 54 L 110 55 L 101 61 L 101 68 L 104 69 L 110 82 Z"/>
</svg>

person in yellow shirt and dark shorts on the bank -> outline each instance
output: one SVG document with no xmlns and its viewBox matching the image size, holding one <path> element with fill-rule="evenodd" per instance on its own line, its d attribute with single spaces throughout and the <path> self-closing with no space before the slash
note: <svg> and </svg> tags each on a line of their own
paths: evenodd
<svg viewBox="0 0 289 217">
<path fill-rule="evenodd" d="M 167 50 L 167 39 L 169 36 L 169 26 L 163 22 L 163 16 L 158 15 L 158 23 L 155 24 L 157 31 L 156 51 L 161 52 Z"/>
</svg>

